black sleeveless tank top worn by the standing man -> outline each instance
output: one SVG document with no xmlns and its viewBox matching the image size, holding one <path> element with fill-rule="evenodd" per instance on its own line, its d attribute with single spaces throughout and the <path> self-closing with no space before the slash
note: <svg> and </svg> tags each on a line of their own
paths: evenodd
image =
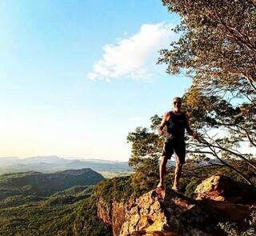
<svg viewBox="0 0 256 236">
<path fill-rule="evenodd" d="M 185 140 L 185 128 L 186 128 L 186 114 L 174 114 L 170 111 L 170 119 L 166 123 L 167 126 L 167 139 L 174 139 L 178 141 Z"/>
</svg>

